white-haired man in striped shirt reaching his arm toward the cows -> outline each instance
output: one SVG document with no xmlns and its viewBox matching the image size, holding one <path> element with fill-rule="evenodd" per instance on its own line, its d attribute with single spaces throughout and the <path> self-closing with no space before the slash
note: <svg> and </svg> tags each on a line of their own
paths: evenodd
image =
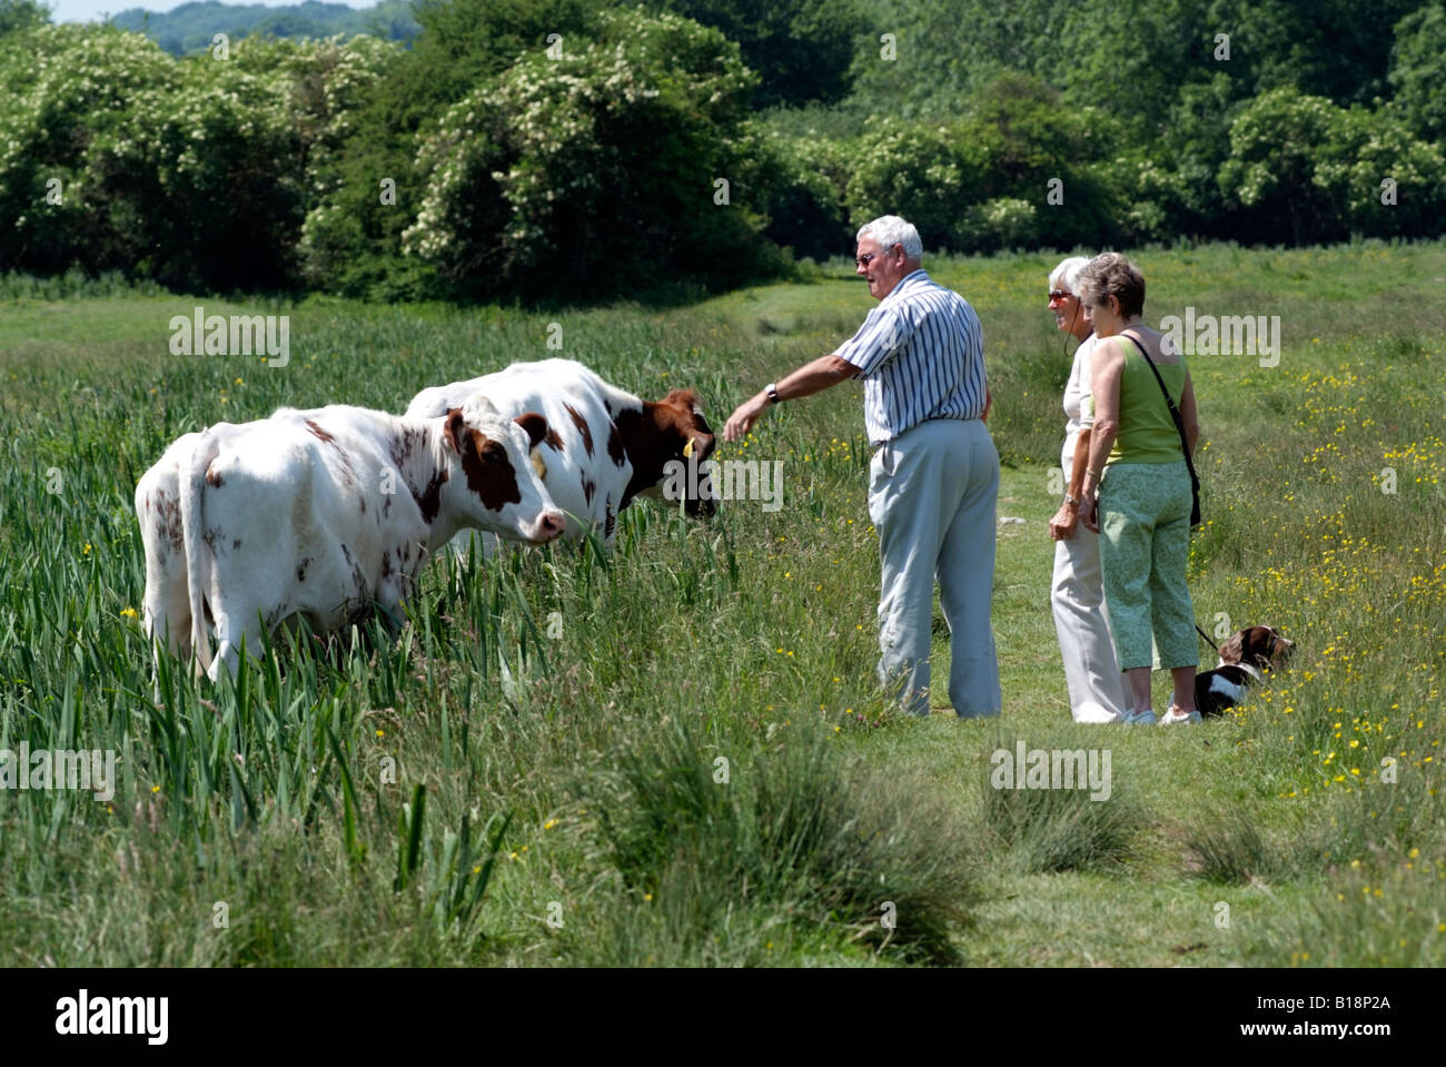
<svg viewBox="0 0 1446 1067">
<path fill-rule="evenodd" d="M 859 230 L 855 263 L 879 305 L 833 356 L 807 363 L 739 405 L 723 435 L 742 440 L 763 409 L 863 377 L 869 518 L 884 562 L 879 682 L 928 714 L 934 581 L 950 632 L 949 698 L 960 719 L 999 714 L 989 627 L 999 453 L 985 428 L 979 317 L 920 267 L 918 230 L 884 215 Z"/>
</svg>

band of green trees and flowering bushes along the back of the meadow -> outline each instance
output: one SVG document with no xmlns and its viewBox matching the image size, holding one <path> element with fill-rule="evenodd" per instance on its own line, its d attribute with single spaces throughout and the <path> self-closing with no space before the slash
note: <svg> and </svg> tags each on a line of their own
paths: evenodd
<svg viewBox="0 0 1446 1067">
<path fill-rule="evenodd" d="M 555 304 L 779 276 L 885 213 L 947 252 L 1440 231 L 1439 3 L 1103 7 L 428 0 L 409 49 L 176 59 L 4 0 L 0 259 Z"/>
</svg>

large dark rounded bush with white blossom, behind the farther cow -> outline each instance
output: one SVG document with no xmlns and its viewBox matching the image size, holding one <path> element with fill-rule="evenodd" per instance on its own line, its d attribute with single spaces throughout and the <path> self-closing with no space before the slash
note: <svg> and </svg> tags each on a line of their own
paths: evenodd
<svg viewBox="0 0 1446 1067">
<path fill-rule="evenodd" d="M 425 195 L 405 252 L 474 295 L 752 269 L 763 221 L 745 121 L 755 78 L 737 46 L 639 9 L 604 13 L 596 38 L 562 48 L 561 59 L 523 55 L 422 139 Z"/>
</svg>

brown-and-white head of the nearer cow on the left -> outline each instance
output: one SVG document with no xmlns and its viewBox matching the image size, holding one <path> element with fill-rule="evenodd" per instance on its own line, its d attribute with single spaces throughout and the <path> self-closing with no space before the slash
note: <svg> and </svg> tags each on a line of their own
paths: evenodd
<svg viewBox="0 0 1446 1067">
<path fill-rule="evenodd" d="M 455 453 L 460 479 L 448 479 L 458 526 L 474 526 L 509 541 L 545 544 L 562 534 L 564 516 L 534 464 L 532 450 L 547 437 L 535 411 L 505 418 L 486 396 L 473 396 L 444 416 L 444 447 Z"/>
</svg>

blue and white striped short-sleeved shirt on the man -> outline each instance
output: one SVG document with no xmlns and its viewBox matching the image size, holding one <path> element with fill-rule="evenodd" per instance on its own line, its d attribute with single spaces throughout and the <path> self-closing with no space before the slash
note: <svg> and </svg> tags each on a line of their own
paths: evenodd
<svg viewBox="0 0 1446 1067">
<path fill-rule="evenodd" d="M 924 273 L 907 275 L 836 353 L 859 367 L 869 442 L 925 419 L 985 413 L 985 343 L 969 301 Z"/>
</svg>

